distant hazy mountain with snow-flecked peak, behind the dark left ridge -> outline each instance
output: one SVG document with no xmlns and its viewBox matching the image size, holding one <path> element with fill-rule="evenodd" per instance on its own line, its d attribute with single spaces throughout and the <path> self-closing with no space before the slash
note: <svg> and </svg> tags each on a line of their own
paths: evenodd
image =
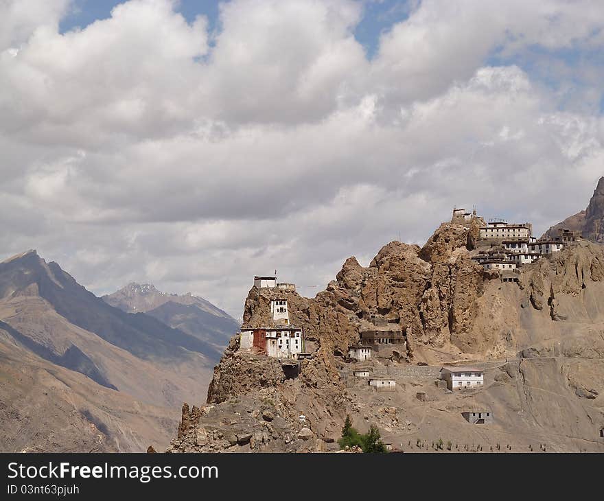
<svg viewBox="0 0 604 501">
<path fill-rule="evenodd" d="M 159 321 L 180 329 L 216 348 L 207 351 L 218 361 L 222 350 L 240 325 L 232 316 L 200 296 L 166 294 L 150 283 L 129 283 L 113 294 L 103 296 L 106 303 L 128 313 L 143 312 Z"/>
</svg>

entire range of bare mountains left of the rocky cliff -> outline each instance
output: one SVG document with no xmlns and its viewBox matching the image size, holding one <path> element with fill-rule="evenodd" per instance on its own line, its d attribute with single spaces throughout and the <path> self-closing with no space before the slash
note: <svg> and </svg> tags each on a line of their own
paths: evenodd
<svg viewBox="0 0 604 501">
<path fill-rule="evenodd" d="M 151 314 L 129 313 L 35 250 L 0 263 L 0 451 L 167 445 L 183 401 L 205 400 L 227 332 L 238 326 L 195 296 L 181 296 L 190 297 L 183 304 L 151 295 Z M 181 307 L 191 311 L 174 310 Z"/>
</svg>

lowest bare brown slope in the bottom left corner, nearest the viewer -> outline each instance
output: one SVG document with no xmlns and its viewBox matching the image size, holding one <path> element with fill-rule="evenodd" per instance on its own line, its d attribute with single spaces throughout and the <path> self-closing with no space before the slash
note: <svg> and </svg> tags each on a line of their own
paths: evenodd
<svg viewBox="0 0 604 501">
<path fill-rule="evenodd" d="M 177 417 L 33 355 L 0 328 L 3 452 L 140 452 L 167 443 Z"/>
</svg>

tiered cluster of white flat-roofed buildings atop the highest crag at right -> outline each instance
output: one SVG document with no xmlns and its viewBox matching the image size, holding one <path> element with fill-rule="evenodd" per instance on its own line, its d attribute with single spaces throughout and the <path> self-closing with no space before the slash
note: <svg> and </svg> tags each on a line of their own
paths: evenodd
<svg viewBox="0 0 604 501">
<path fill-rule="evenodd" d="M 553 238 L 533 237 L 533 225 L 529 222 L 510 223 L 504 220 L 485 222 L 483 218 L 465 209 L 453 209 L 452 223 L 471 224 L 478 222 L 479 233 L 476 239 L 478 253 L 472 259 L 478 261 L 485 270 L 513 272 L 523 264 L 531 264 L 541 257 L 551 256 L 568 242 L 580 237 L 580 232 L 566 228 L 558 230 Z M 509 273 L 502 274 L 503 281 L 516 281 Z"/>
</svg>

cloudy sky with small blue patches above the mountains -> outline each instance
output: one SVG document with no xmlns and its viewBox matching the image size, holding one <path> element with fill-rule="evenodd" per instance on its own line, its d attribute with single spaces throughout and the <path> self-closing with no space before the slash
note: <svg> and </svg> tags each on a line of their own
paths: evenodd
<svg viewBox="0 0 604 501">
<path fill-rule="evenodd" d="M 0 259 L 235 317 L 453 207 L 533 222 L 604 175 L 599 0 L 0 0 Z"/>
</svg>

